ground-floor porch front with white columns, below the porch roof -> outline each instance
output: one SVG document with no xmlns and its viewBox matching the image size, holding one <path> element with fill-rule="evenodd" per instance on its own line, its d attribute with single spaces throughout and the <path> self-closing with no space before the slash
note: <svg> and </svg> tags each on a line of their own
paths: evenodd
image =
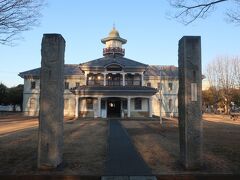
<svg viewBox="0 0 240 180">
<path fill-rule="evenodd" d="M 152 117 L 151 97 L 77 97 L 75 117 Z"/>
</svg>

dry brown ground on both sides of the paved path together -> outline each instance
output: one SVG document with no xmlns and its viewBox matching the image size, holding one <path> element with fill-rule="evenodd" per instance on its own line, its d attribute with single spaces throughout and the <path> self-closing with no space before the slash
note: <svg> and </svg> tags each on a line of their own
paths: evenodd
<svg viewBox="0 0 240 180">
<path fill-rule="evenodd" d="M 203 116 L 203 159 L 200 171 L 185 171 L 179 163 L 177 119 L 121 121 L 153 174 L 239 174 L 240 121 L 222 115 Z M 107 153 L 106 120 L 65 120 L 64 167 L 37 170 L 37 118 L 0 114 L 0 175 L 102 175 Z"/>
</svg>

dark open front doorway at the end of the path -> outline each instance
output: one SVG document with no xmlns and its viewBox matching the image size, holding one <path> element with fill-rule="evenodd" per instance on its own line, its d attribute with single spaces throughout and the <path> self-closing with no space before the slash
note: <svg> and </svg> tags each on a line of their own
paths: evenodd
<svg viewBox="0 0 240 180">
<path fill-rule="evenodd" d="M 107 100 L 107 117 L 121 117 L 120 98 L 109 98 Z"/>
</svg>

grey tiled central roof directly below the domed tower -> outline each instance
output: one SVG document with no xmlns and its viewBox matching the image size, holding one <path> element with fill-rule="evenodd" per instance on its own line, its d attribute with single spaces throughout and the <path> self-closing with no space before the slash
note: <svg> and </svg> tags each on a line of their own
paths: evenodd
<svg viewBox="0 0 240 180">
<path fill-rule="evenodd" d="M 105 56 L 99 59 L 95 59 L 92 61 L 88 61 L 80 64 L 80 66 L 105 67 L 113 63 L 119 64 L 124 68 L 146 68 L 148 66 L 147 64 L 143 64 L 143 63 L 140 63 L 122 56 L 117 56 L 117 55 L 115 57 L 111 55 L 111 56 Z"/>
</svg>

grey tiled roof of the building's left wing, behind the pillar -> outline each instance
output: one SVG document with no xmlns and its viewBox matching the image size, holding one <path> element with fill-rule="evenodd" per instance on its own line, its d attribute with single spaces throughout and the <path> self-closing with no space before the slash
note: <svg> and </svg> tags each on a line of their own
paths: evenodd
<svg viewBox="0 0 240 180">
<path fill-rule="evenodd" d="M 82 75 L 83 72 L 80 70 L 78 64 L 65 64 L 64 65 L 64 75 L 65 76 L 72 76 L 72 75 Z M 20 72 L 18 74 L 21 78 L 24 76 L 40 76 L 40 68 L 32 69 L 29 71 Z"/>
</svg>

